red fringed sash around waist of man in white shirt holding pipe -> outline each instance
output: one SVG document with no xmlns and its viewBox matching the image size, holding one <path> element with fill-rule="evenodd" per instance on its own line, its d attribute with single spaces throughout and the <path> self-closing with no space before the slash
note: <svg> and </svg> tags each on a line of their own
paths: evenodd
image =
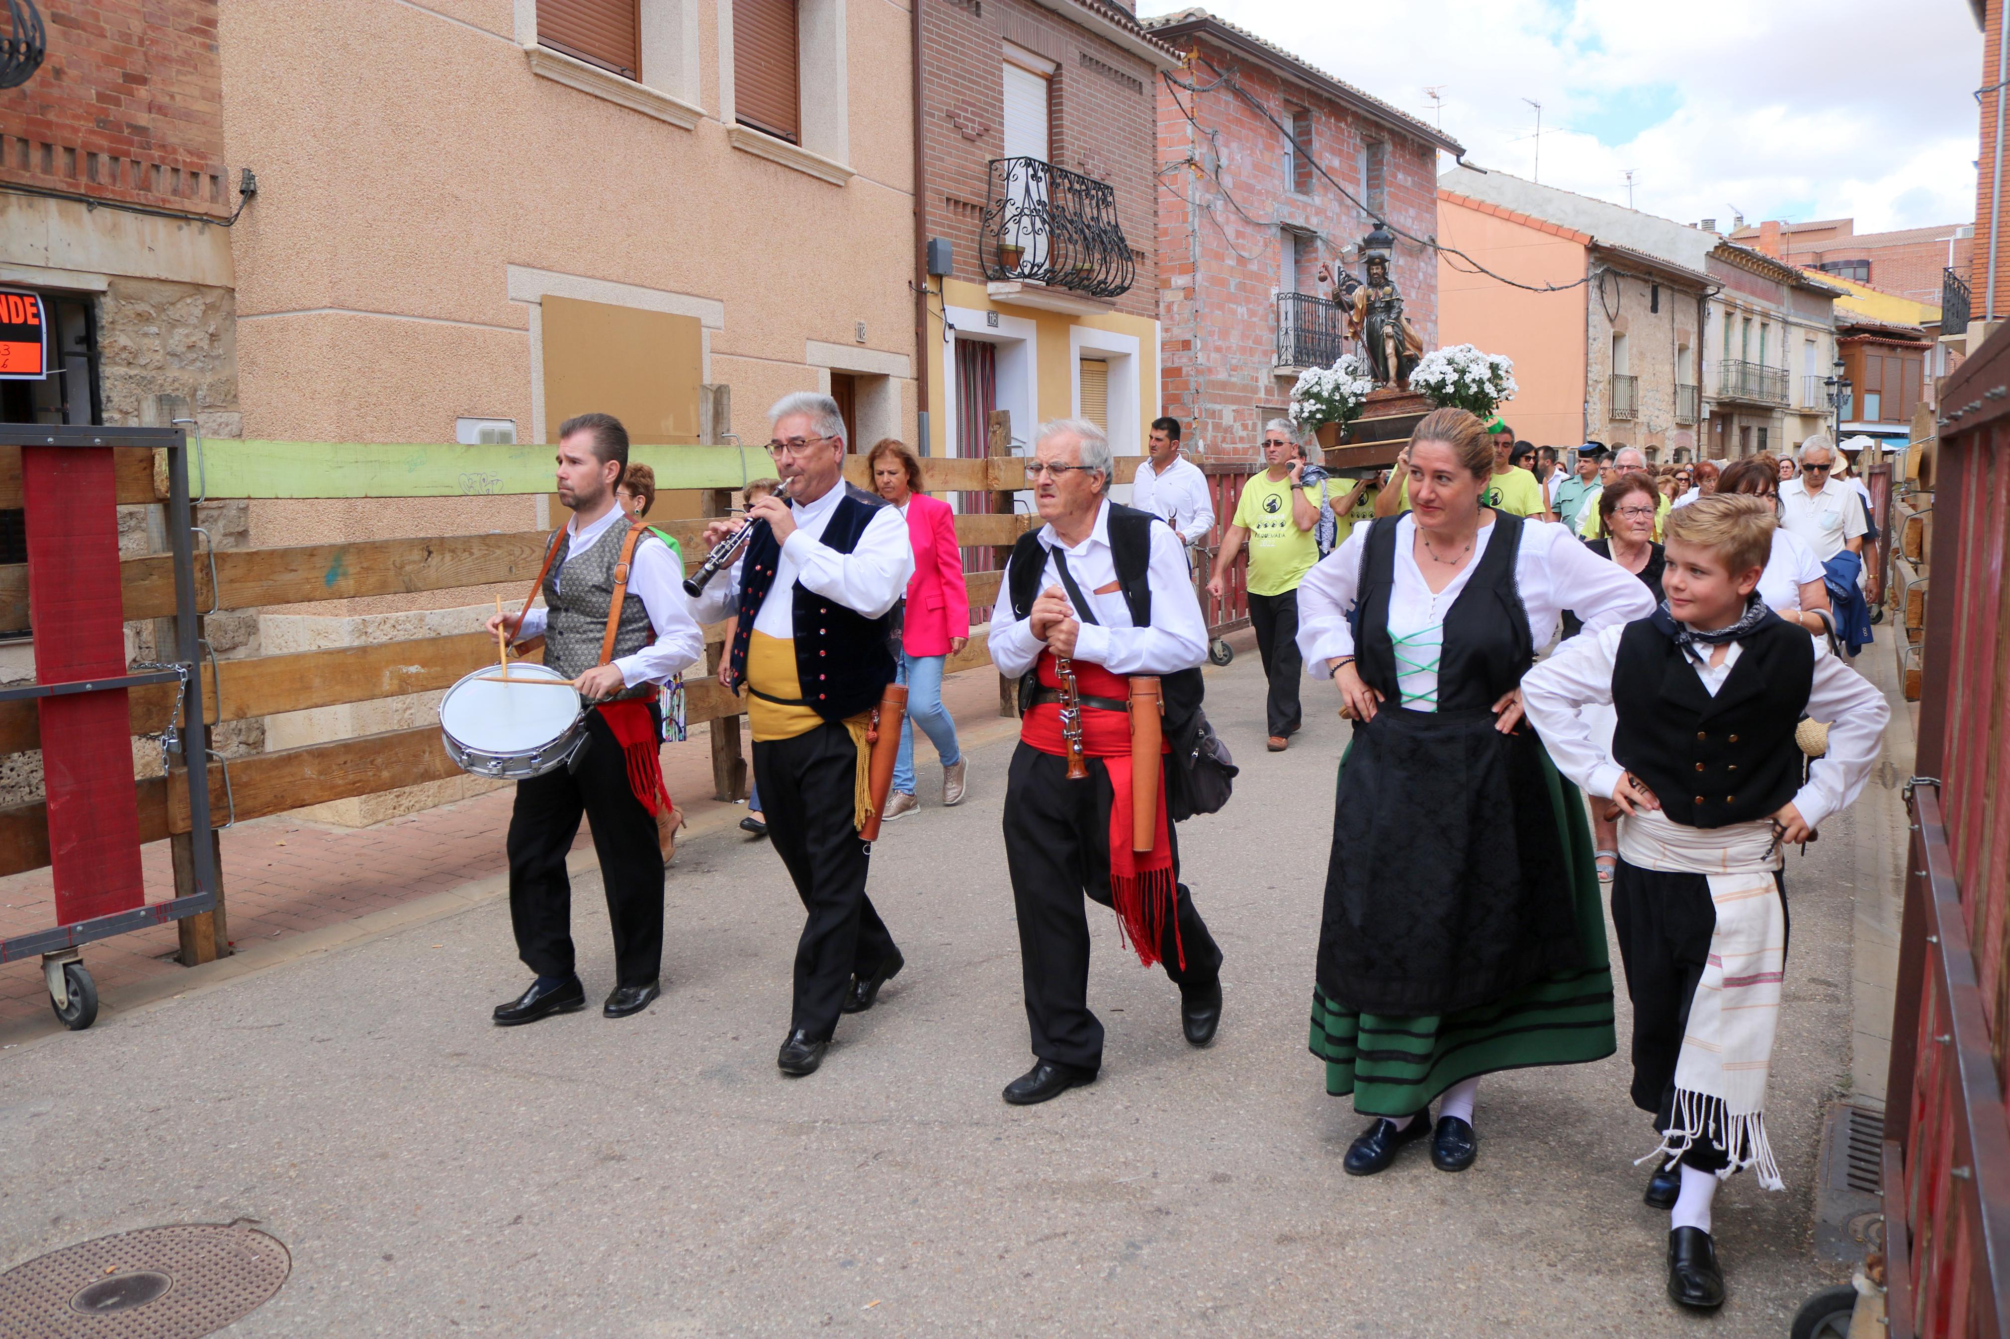
<svg viewBox="0 0 2010 1339">
<path fill-rule="evenodd" d="M 1039 683 L 1047 689 L 1061 687 L 1061 677 L 1053 668 L 1053 654 L 1045 650 L 1039 652 Z M 1075 660 L 1075 687 L 1083 697 L 1130 699 L 1130 683 L 1126 679 L 1085 660 Z M 1067 757 L 1067 741 L 1061 737 L 1061 709 L 1053 703 L 1041 703 L 1029 711 L 1025 721 L 1019 723 L 1019 739 L 1041 753 Z M 1160 938 L 1166 931 L 1166 921 L 1172 919 L 1174 950 L 1180 956 L 1180 968 L 1186 968 L 1186 946 L 1180 944 L 1180 919 L 1174 911 L 1180 889 L 1172 873 L 1172 833 L 1166 819 L 1164 771 L 1160 771 L 1152 849 L 1132 851 L 1130 717 L 1120 711 L 1083 707 L 1081 753 L 1103 761 L 1103 767 L 1110 769 L 1110 787 L 1116 791 L 1116 799 L 1110 805 L 1110 905 L 1118 913 L 1118 927 L 1130 940 L 1138 962 L 1150 968 L 1160 960 Z"/>
</svg>

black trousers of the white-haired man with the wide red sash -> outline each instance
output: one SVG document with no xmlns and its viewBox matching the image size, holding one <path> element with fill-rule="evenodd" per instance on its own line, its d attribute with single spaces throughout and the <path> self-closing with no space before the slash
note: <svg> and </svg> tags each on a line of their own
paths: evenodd
<svg viewBox="0 0 2010 1339">
<path fill-rule="evenodd" d="M 1110 905 L 1110 807 L 1116 791 L 1101 759 L 1089 759 L 1085 781 L 1067 779 L 1067 759 L 1021 743 L 1005 779 L 1005 863 L 1019 911 L 1019 966 L 1025 974 L 1025 1020 L 1033 1054 L 1093 1070 L 1103 1062 L 1103 1024 L 1089 1012 L 1089 917 L 1081 895 Z M 1172 869 L 1180 873 L 1180 839 L 1172 835 Z M 1222 950 L 1180 887 L 1178 942 L 1174 921 L 1158 952 L 1180 990 L 1220 980 Z M 1180 952 L 1186 966 L 1180 966 Z"/>
</svg>

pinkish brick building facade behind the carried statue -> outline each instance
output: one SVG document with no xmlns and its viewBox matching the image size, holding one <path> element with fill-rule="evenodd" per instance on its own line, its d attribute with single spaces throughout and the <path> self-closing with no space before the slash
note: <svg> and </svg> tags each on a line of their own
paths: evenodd
<svg viewBox="0 0 2010 1339">
<path fill-rule="evenodd" d="M 1397 231 L 1405 311 L 1437 345 L 1437 265 L 1413 239 L 1437 233 L 1439 149 L 1463 151 L 1206 10 L 1148 26 L 1192 52 L 1158 88 L 1166 414 L 1188 450 L 1254 458 L 1298 371 L 1351 347 L 1317 273 L 1359 277 L 1355 247 L 1375 219 Z"/>
</svg>

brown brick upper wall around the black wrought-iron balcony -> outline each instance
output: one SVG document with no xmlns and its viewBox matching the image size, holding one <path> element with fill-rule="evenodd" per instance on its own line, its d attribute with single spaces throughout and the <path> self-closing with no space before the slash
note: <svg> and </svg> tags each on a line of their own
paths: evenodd
<svg viewBox="0 0 2010 1339">
<path fill-rule="evenodd" d="M 1150 64 L 1029 0 L 921 4 L 923 173 L 929 237 L 955 245 L 955 275 L 983 283 L 977 233 L 991 159 L 1005 155 L 1005 40 L 1059 64 L 1053 74 L 1051 159 L 1116 191 L 1118 225 L 1138 267 L 1118 311 L 1158 315 L 1158 203 Z"/>
</svg>

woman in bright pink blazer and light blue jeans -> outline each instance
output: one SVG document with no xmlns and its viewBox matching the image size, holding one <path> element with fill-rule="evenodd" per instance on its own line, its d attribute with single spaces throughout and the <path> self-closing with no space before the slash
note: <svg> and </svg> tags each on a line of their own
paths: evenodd
<svg viewBox="0 0 2010 1339">
<path fill-rule="evenodd" d="M 921 462 L 907 444 L 882 438 L 866 458 L 872 490 L 907 516 L 915 544 L 915 576 L 907 582 L 907 614 L 900 628 L 900 679 L 907 685 L 907 719 L 900 723 L 900 753 L 892 765 L 892 795 L 886 819 L 913 813 L 915 727 L 927 731 L 943 759 L 943 803 L 963 799 L 963 753 L 957 751 L 957 723 L 943 707 L 943 662 L 971 640 L 971 596 L 963 588 L 963 552 L 957 548 L 957 516 L 947 502 L 921 492 Z"/>
</svg>

